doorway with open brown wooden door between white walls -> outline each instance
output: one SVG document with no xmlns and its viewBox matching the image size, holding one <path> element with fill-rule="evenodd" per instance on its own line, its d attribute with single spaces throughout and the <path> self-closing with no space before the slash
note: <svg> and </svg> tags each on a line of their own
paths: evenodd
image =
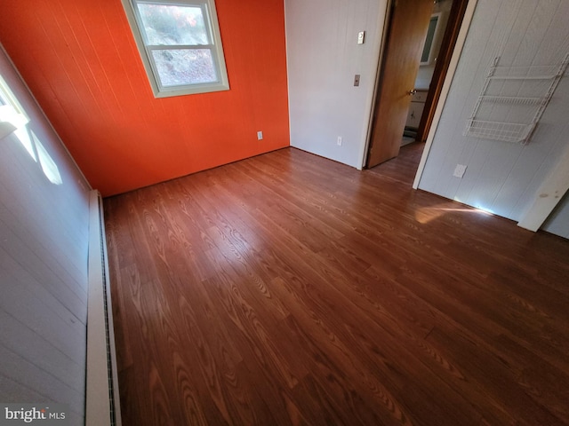
<svg viewBox="0 0 569 426">
<path fill-rule="evenodd" d="M 366 168 L 397 157 L 410 118 L 413 133 L 406 134 L 419 143 L 427 139 L 468 3 L 391 2 Z M 441 26 L 446 21 L 445 28 L 437 29 L 437 21 Z M 437 30 L 442 36 L 437 37 Z"/>
</svg>

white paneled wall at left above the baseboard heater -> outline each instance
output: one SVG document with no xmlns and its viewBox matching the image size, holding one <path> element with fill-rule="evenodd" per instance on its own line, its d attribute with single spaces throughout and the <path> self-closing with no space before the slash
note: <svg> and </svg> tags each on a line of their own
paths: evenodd
<svg viewBox="0 0 569 426">
<path fill-rule="evenodd" d="M 61 177 L 53 184 L 14 133 L 0 139 L 0 401 L 68 404 L 82 425 L 89 185 L 1 45 L 0 75 Z"/>
</svg>

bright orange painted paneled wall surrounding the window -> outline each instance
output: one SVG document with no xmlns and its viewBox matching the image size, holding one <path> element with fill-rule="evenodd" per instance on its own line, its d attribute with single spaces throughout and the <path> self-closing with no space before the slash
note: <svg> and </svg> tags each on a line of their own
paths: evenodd
<svg viewBox="0 0 569 426">
<path fill-rule="evenodd" d="M 104 196 L 289 146 L 283 0 L 216 6 L 231 90 L 155 99 L 120 0 L 2 0 L 0 42 Z"/>
</svg>

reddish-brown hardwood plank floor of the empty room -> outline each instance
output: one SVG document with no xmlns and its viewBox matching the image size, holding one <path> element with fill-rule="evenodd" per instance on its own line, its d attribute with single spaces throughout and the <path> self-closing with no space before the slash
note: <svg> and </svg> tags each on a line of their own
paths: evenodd
<svg viewBox="0 0 569 426">
<path fill-rule="evenodd" d="M 420 150 L 105 200 L 123 424 L 569 424 L 569 241 L 414 191 Z"/>
</svg>

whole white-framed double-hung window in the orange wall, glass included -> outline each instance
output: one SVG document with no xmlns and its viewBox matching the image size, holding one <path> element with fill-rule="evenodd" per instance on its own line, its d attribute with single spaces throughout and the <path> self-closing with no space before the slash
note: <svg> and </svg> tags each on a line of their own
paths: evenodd
<svg viewBox="0 0 569 426">
<path fill-rule="evenodd" d="M 227 91 L 214 0 L 123 0 L 156 98 Z"/>
</svg>

